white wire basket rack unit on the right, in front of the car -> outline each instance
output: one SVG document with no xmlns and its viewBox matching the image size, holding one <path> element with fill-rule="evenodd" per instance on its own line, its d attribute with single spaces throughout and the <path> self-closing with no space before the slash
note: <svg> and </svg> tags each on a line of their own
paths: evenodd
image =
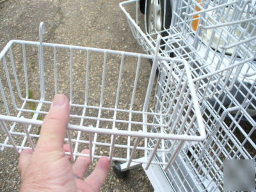
<svg viewBox="0 0 256 192">
<path fill-rule="evenodd" d="M 175 191 L 223 191 L 225 159 L 256 159 L 256 4 L 146 0 L 143 22 L 139 2 L 120 3 L 134 38 L 148 54 L 159 52 L 161 56 L 189 63 L 207 134 L 205 141 L 185 142 L 175 159 L 172 152 L 159 152 L 156 158 L 168 162 L 171 159 L 170 166 L 161 167 Z M 170 2 L 171 12 L 166 9 Z M 162 8 L 161 29 L 148 26 L 150 3 Z M 132 6 L 134 12 L 128 12 Z M 166 24 L 166 15 L 170 13 L 172 19 Z M 152 14 L 157 16 L 156 12 Z M 158 35 L 161 35 L 159 51 L 156 50 Z M 165 96 L 166 74 L 159 75 L 162 83 L 156 94 L 157 103 Z M 175 90 L 170 86 L 170 93 L 175 94 Z M 186 113 L 189 106 L 185 104 L 182 108 Z M 168 108 L 156 106 L 156 111 L 164 113 L 163 110 Z M 154 141 L 148 145 L 154 148 Z M 169 147 L 173 143 L 164 145 Z"/>
</svg>

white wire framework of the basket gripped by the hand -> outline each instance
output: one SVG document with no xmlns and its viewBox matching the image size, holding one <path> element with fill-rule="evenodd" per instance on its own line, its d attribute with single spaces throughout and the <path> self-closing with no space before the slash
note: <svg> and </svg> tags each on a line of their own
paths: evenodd
<svg viewBox="0 0 256 192">
<path fill-rule="evenodd" d="M 71 122 L 67 126 L 67 138 L 65 141 L 70 146 L 70 154 L 72 160 L 76 159 L 77 156 L 88 156 L 90 157 L 91 163 L 93 158 L 99 158 L 103 154 L 99 154 L 97 147 L 108 148 L 108 153 L 105 154 L 109 156 L 109 159 L 126 162 L 125 168 L 130 168 L 135 163 L 146 163 L 147 168 L 150 164 L 163 164 L 164 166 L 169 166 L 172 161 L 154 161 L 154 154 L 157 152 L 162 152 L 163 154 L 173 151 L 174 154 L 177 154 L 177 151 L 180 150 L 179 145 L 172 148 L 166 148 L 164 143 L 166 140 L 177 140 L 181 143 L 184 143 L 184 140 L 189 141 L 202 141 L 205 139 L 205 129 L 202 120 L 202 115 L 200 113 L 200 108 L 198 100 L 195 93 L 195 85 L 191 79 L 191 73 L 186 60 L 173 59 L 156 54 L 150 56 L 147 54 L 136 54 L 132 52 L 122 52 L 122 51 L 111 51 L 106 49 L 96 49 L 89 47 L 79 47 L 73 45 L 60 45 L 60 44 L 49 44 L 43 42 L 44 34 L 44 23 L 40 24 L 40 41 L 39 42 L 29 42 L 23 40 L 12 40 L 3 51 L 0 53 L 0 60 L 3 66 L 0 79 L 0 91 L 1 91 L 1 102 L 3 102 L 0 122 L 3 132 L 6 133 L 6 138 L 1 138 L 0 146 L 1 150 L 4 150 L 6 147 L 12 147 L 19 154 L 24 148 L 35 148 L 36 141 L 39 137 L 38 132 L 33 131 L 40 130 L 40 125 L 42 125 L 42 120 L 38 119 L 40 116 L 47 114 L 47 109 L 51 105 L 51 100 L 54 94 L 60 93 L 60 79 L 58 79 L 58 62 L 60 62 L 60 57 L 58 55 L 65 52 L 68 54 L 68 71 L 66 72 L 66 79 L 69 82 L 69 90 L 67 92 L 70 99 L 70 120 Z M 159 41 L 160 42 L 160 38 Z M 15 46 L 18 48 L 16 49 Z M 30 48 L 31 47 L 31 48 Z M 159 47 L 159 46 L 158 46 Z M 35 76 L 38 76 L 38 92 L 40 93 L 38 99 L 33 99 L 29 97 L 29 88 L 33 87 L 33 83 L 29 83 L 29 78 L 31 74 L 28 74 L 28 65 L 29 65 L 29 52 L 30 50 L 36 50 L 38 53 L 38 73 L 35 73 Z M 18 51 L 17 51 L 18 50 Z M 47 53 L 45 53 L 47 50 Z M 51 50 L 51 51 L 49 51 Z M 84 98 L 84 104 L 79 104 L 74 101 L 74 97 L 78 94 L 75 90 L 75 81 L 76 76 L 74 72 L 74 65 L 76 64 L 75 52 L 80 51 L 84 52 L 84 68 L 86 68 L 86 77 L 81 81 L 84 83 L 84 95 L 80 95 Z M 91 57 L 95 54 L 101 56 L 99 62 L 102 61 L 102 80 L 100 82 L 100 92 L 99 92 L 99 106 L 91 106 L 88 104 L 88 94 L 90 94 L 90 68 L 92 67 Z M 17 55 L 20 63 L 17 63 L 15 56 Z M 20 58 L 21 55 L 21 58 Z M 52 58 L 49 58 L 52 55 Z M 63 56 L 63 55 L 61 55 Z M 108 73 L 106 72 L 108 67 L 108 58 L 114 58 L 113 60 L 118 60 L 119 63 L 119 75 L 118 81 L 116 83 L 116 95 L 115 95 L 115 106 L 109 108 L 104 106 L 104 89 L 106 86 L 106 79 L 108 79 Z M 124 65 L 131 65 L 131 63 L 125 61 L 125 59 L 133 58 L 136 66 L 136 74 L 134 79 L 123 79 L 123 68 Z M 136 100 L 136 91 L 138 89 L 138 81 L 140 79 L 140 66 L 141 60 L 149 59 L 153 60 L 153 67 L 151 70 L 150 77 L 148 79 L 147 92 L 144 93 L 144 103 L 143 107 L 140 109 L 133 109 L 134 100 Z M 48 64 L 45 64 L 50 62 Z M 98 62 L 98 63 L 99 63 Z M 172 63 L 172 65 L 170 65 Z M 47 70 L 46 65 L 52 67 L 52 71 Z M 152 93 L 154 90 L 157 90 L 159 86 L 159 81 L 162 81 L 158 78 L 156 85 L 156 70 L 157 66 L 159 70 L 168 71 L 168 79 L 166 79 L 166 93 L 163 98 L 163 104 L 161 108 L 165 109 L 168 107 L 168 111 L 164 113 L 154 112 L 154 104 L 149 104 L 150 99 L 152 99 Z M 172 66 L 172 67 L 170 67 Z M 20 70 L 20 67 L 22 70 Z M 20 79 L 24 79 L 24 82 L 21 82 Z M 47 89 L 47 79 L 53 78 L 54 84 L 50 86 L 50 90 Z M 121 108 L 119 104 L 119 98 L 122 94 L 122 81 L 128 82 L 132 86 L 132 95 L 127 95 L 127 98 L 131 98 L 129 108 Z M 34 81 L 35 83 L 35 81 Z M 168 89 L 167 87 L 176 86 L 179 90 L 179 97 L 175 95 L 172 99 L 168 99 Z M 181 89 L 182 88 L 182 89 Z M 51 94 L 49 94 L 51 92 Z M 154 98 L 155 96 L 153 96 Z M 180 113 L 179 102 L 176 102 L 176 98 L 180 100 L 180 104 L 189 104 L 189 110 L 187 115 Z M 172 102 L 172 106 L 166 106 L 166 99 L 168 102 Z M 174 102 L 175 101 L 175 102 Z M 28 108 L 29 104 L 33 104 L 35 108 Z M 159 105 L 158 103 L 156 103 Z M 81 113 L 77 114 L 72 112 L 72 108 L 75 108 Z M 97 111 L 95 115 L 88 115 L 87 111 L 94 109 Z M 104 117 L 104 111 L 113 113 L 111 117 Z M 129 116 L 127 119 L 120 118 L 120 114 L 125 113 Z M 193 113 L 191 115 L 190 113 Z M 140 120 L 133 120 L 134 116 L 140 116 Z M 191 124 L 186 124 L 180 127 L 179 125 L 174 124 L 171 120 L 173 115 L 177 115 L 180 118 L 189 118 Z M 118 117 L 119 116 L 119 117 Z M 164 119 L 164 120 L 163 120 Z M 93 125 L 86 124 L 87 121 L 92 120 L 95 122 Z M 167 121 L 166 121 L 167 120 Z M 153 122 L 152 122 L 153 121 Z M 111 128 L 100 127 L 101 122 L 109 122 Z M 118 127 L 118 124 L 122 126 Z M 138 126 L 135 131 L 132 129 L 132 126 Z M 151 132 L 151 127 L 157 127 L 159 131 Z M 173 129 L 172 132 L 165 131 L 166 129 Z M 178 129 L 179 131 L 174 131 Z M 192 130 L 192 131 L 191 131 Z M 76 132 L 77 131 L 77 132 Z M 195 133 L 196 131 L 196 133 Z M 73 136 L 72 133 L 75 133 Z M 83 136 L 82 136 L 83 135 Z M 102 141 L 100 136 L 105 135 L 108 138 L 111 138 L 111 141 Z M 120 144 L 116 143 L 118 136 L 124 136 L 126 143 Z M 132 141 L 134 138 L 134 141 Z M 157 140 L 156 147 L 148 147 L 148 139 Z M 143 145 L 140 144 L 140 141 L 143 141 Z M 81 154 L 78 152 L 80 145 L 87 145 L 90 154 Z M 116 148 L 121 148 L 124 150 L 126 157 L 117 156 L 115 153 Z M 143 152 L 143 156 L 140 158 L 136 157 L 138 151 Z"/>
</svg>

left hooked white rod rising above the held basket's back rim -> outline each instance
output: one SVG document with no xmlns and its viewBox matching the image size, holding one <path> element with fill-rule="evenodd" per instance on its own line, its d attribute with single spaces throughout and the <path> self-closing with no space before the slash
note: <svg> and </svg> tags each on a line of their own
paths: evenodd
<svg viewBox="0 0 256 192">
<path fill-rule="evenodd" d="M 44 35 L 45 29 L 44 29 L 44 22 L 40 23 L 39 26 L 39 70 L 40 70 L 40 93 L 41 93 L 41 99 L 44 100 L 45 97 L 45 88 L 44 88 L 44 51 L 43 51 L 43 35 Z"/>
</svg>

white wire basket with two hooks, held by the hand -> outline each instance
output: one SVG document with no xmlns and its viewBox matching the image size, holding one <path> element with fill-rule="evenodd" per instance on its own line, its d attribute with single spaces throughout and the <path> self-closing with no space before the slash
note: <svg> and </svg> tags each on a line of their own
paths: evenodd
<svg viewBox="0 0 256 192">
<path fill-rule="evenodd" d="M 43 33 L 42 23 L 40 42 L 12 40 L 0 54 L 1 150 L 12 147 L 20 153 L 24 148 L 35 148 L 42 120 L 57 93 L 65 93 L 70 100 L 65 141 L 73 160 L 76 156 L 89 156 L 91 161 L 108 156 L 127 162 L 127 167 L 134 162 L 168 164 L 150 159 L 148 154 L 154 156 L 168 148 L 148 147 L 147 138 L 163 143 L 204 140 L 202 115 L 186 60 L 43 43 Z M 145 60 L 153 60 L 150 76 L 141 73 Z M 156 77 L 157 65 L 160 71 L 168 72 L 164 77 L 168 88 L 172 84 L 172 89 L 179 90 L 179 95 L 167 99 L 170 90 L 166 86 L 161 103 L 154 102 L 162 83 Z M 118 68 L 118 73 L 113 68 Z M 116 89 L 109 90 L 113 84 Z M 160 110 L 156 111 L 156 106 L 161 106 Z M 180 113 L 186 106 L 188 109 Z M 191 124 L 180 127 L 180 122 L 172 122 L 173 116 L 186 118 Z M 156 131 L 152 132 L 152 127 Z M 90 154 L 80 154 L 83 148 L 89 148 Z M 116 155 L 120 154 L 117 151 L 122 151 L 122 156 Z"/>
</svg>

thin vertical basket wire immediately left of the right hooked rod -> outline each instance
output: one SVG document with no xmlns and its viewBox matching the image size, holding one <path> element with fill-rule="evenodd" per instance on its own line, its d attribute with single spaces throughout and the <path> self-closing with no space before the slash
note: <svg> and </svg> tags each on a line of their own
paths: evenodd
<svg viewBox="0 0 256 192">
<path fill-rule="evenodd" d="M 138 62 L 137 62 L 137 67 L 136 67 L 136 74 L 135 74 L 135 79 L 134 79 L 134 84 L 133 84 L 133 89 L 132 89 L 132 99 L 131 99 L 131 105 L 130 105 L 130 112 L 129 112 L 129 121 L 131 122 L 132 120 L 132 113 L 131 110 L 133 108 L 134 104 L 134 98 L 136 94 L 136 89 L 137 89 L 137 84 L 138 84 L 138 78 L 139 78 L 139 72 L 140 72 L 140 65 L 141 65 L 141 56 L 138 56 Z M 131 131 L 131 123 L 128 125 L 128 131 Z M 131 136 L 127 137 L 127 145 L 131 145 Z M 127 159 L 129 158 L 130 154 L 130 148 L 127 148 Z"/>
</svg>

